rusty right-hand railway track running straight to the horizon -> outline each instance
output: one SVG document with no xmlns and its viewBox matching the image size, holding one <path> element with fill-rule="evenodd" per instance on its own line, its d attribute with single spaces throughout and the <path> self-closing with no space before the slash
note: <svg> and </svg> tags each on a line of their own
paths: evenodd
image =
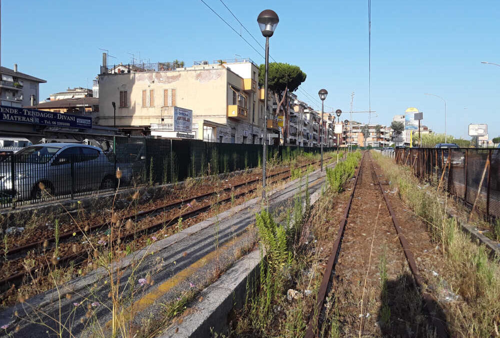
<svg viewBox="0 0 500 338">
<path fill-rule="evenodd" d="M 329 291 L 331 291 L 332 293 L 335 293 L 333 277 L 338 272 L 338 271 L 336 271 L 336 268 L 338 265 L 337 263 L 339 261 L 340 251 L 342 250 L 342 240 L 344 238 L 346 226 L 349 224 L 348 220 L 349 220 L 349 214 L 352 211 L 351 205 L 353 204 L 354 194 L 356 193 L 356 188 L 359 189 L 358 180 L 359 180 L 360 176 L 362 178 L 361 169 L 363 168 L 363 166 L 365 166 L 364 173 L 366 173 L 366 167 L 369 167 L 369 173 L 370 173 L 370 176 L 372 177 L 372 180 L 373 180 L 373 183 L 371 183 L 370 185 L 371 186 L 378 186 L 378 188 L 379 188 L 379 191 L 378 191 L 379 197 L 375 201 L 377 204 L 380 203 L 379 201 L 381 201 L 382 199 L 384 201 L 383 202 L 384 206 L 382 206 L 382 203 L 380 203 L 379 210 L 384 208 L 385 210 L 383 212 L 385 212 L 387 215 L 390 215 L 390 219 L 391 219 L 391 222 L 393 225 L 393 230 L 395 230 L 395 233 L 397 234 L 397 237 L 399 239 L 399 243 L 400 243 L 399 251 L 402 251 L 404 253 L 404 257 L 405 257 L 407 266 L 409 267 L 409 270 L 411 271 L 413 283 L 415 286 L 417 286 L 417 288 L 419 289 L 419 292 L 422 296 L 423 309 L 426 312 L 426 317 L 429 321 L 429 324 L 434 327 L 437 337 L 447 337 L 448 332 L 446 330 L 444 321 L 441 320 L 441 318 L 439 318 L 439 316 L 435 315 L 435 313 L 438 313 L 437 308 L 436 308 L 435 299 L 432 297 L 432 295 L 430 293 L 425 291 L 425 281 L 418 272 L 418 268 L 417 268 L 413 253 L 411 251 L 411 248 L 410 248 L 408 241 L 406 240 L 404 234 L 402 233 L 402 230 L 401 230 L 401 227 L 398 223 L 396 215 L 394 214 L 394 209 L 392 208 L 392 205 L 391 205 L 389 199 L 387 198 L 387 194 L 384 191 L 384 189 L 382 188 L 382 184 L 379 180 L 379 173 L 375 170 L 375 168 L 373 166 L 371 155 L 369 154 L 369 152 L 363 153 L 363 156 L 361 158 L 361 161 L 360 161 L 359 166 L 357 168 L 357 171 L 355 173 L 353 187 L 352 187 L 350 196 L 347 200 L 347 204 L 343 210 L 343 215 L 342 215 L 342 217 L 339 221 L 339 224 L 338 224 L 338 231 L 336 234 L 336 239 L 335 239 L 335 242 L 333 243 L 333 247 L 330 251 L 330 255 L 329 255 L 328 261 L 326 263 L 326 267 L 325 267 L 325 271 L 323 273 L 321 285 L 319 287 L 318 294 L 316 297 L 316 299 L 317 299 L 316 304 L 313 307 L 313 309 L 311 310 L 310 320 L 309 320 L 309 323 L 307 325 L 305 337 L 306 338 L 313 338 L 313 337 L 319 336 L 319 332 L 321 331 L 321 324 L 322 324 L 320 318 L 321 318 L 321 314 L 324 313 L 324 307 L 325 307 L 324 303 L 325 303 L 326 295 L 328 294 Z M 366 184 L 366 182 L 363 182 L 363 184 Z M 373 194 L 375 190 L 378 190 L 378 189 L 373 189 L 370 191 L 370 193 Z M 373 196 L 373 195 L 371 195 L 371 196 Z M 357 198 L 359 199 L 360 197 L 357 197 Z M 365 202 L 365 203 L 369 203 L 369 202 Z M 359 207 L 359 205 L 357 205 L 357 207 Z M 364 211 L 364 212 L 366 212 L 366 211 Z M 378 215 L 377 215 L 377 219 L 378 219 Z M 373 223 L 375 221 L 370 220 L 369 222 Z M 353 224 L 351 223 L 350 226 L 355 225 L 355 224 L 356 223 L 353 223 Z M 375 226 L 376 226 L 376 224 L 375 224 Z M 375 234 L 374 231 L 375 230 L 373 229 L 373 234 Z M 387 232 L 387 234 L 389 234 L 389 233 Z M 353 238 L 351 236 L 349 238 L 349 242 L 346 243 L 345 245 L 347 245 L 347 246 L 352 245 L 351 244 L 352 239 Z M 380 238 L 376 238 L 376 239 L 380 240 Z M 360 240 L 360 238 L 358 238 L 357 240 Z M 395 251 L 398 251 L 398 250 L 395 250 Z M 352 252 L 349 252 L 349 254 L 352 254 Z M 358 254 L 359 254 L 359 252 L 358 252 Z M 371 253 L 370 253 L 370 255 L 371 255 Z M 345 263 L 343 263 L 343 265 L 345 265 Z M 350 266 L 350 267 L 354 268 L 353 266 Z M 345 266 L 344 266 L 344 268 L 345 268 Z M 363 286 L 363 292 L 364 292 L 364 286 Z M 362 323 L 362 320 L 363 320 L 362 317 L 360 320 Z"/>
</svg>

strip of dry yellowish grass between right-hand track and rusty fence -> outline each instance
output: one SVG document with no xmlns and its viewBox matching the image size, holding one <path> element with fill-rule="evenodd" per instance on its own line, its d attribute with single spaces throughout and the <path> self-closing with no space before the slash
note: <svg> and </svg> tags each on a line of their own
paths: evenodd
<svg viewBox="0 0 500 338">
<path fill-rule="evenodd" d="M 432 240 L 443 255 L 440 274 L 463 302 L 443 304 L 452 336 L 499 336 L 500 267 L 499 259 L 488 259 L 484 245 L 471 242 L 456 220 L 447 216 L 442 192 L 420 187 L 417 178 L 406 167 L 373 153 L 391 189 L 397 189 L 402 202 L 424 220 Z M 436 290 L 437 292 L 438 290 Z"/>
</svg>

